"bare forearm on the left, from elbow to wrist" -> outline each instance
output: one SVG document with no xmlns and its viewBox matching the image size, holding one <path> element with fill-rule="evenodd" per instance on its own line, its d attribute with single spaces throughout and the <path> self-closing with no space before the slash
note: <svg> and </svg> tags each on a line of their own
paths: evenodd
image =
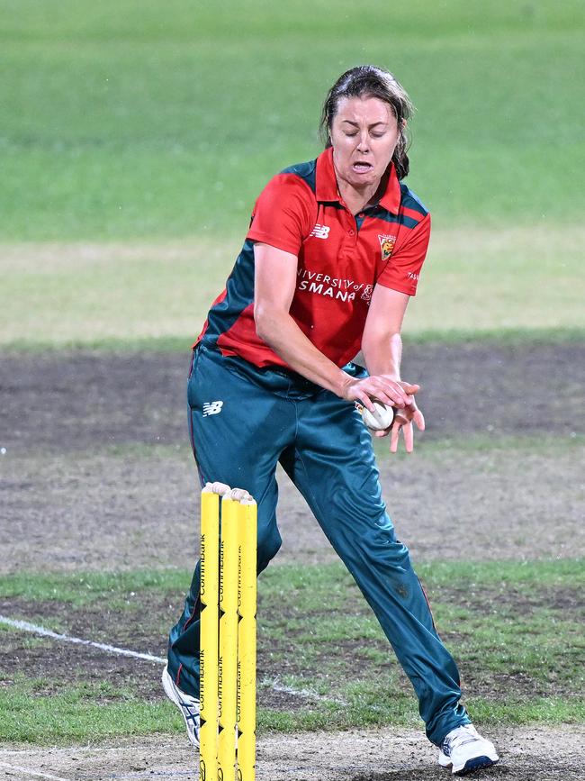
<svg viewBox="0 0 585 781">
<path fill-rule="evenodd" d="M 315 347 L 289 313 L 257 312 L 256 330 L 260 339 L 294 371 L 343 397 L 343 389 L 352 382 L 352 377 Z"/>
</svg>

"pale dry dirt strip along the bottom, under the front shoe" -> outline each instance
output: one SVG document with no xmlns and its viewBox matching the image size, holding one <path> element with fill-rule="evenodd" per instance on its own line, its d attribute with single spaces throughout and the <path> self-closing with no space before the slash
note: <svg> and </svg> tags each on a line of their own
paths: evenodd
<svg viewBox="0 0 585 781">
<path fill-rule="evenodd" d="M 490 731 L 500 764 L 482 781 L 578 781 L 585 733 L 578 727 Z M 142 781 L 154 777 L 195 781 L 197 754 L 183 736 L 121 740 L 107 746 L 0 751 L 0 778 L 26 779 L 17 767 L 62 781 Z M 4 770 L 4 776 L 2 775 Z M 372 730 L 264 735 L 258 740 L 258 781 L 446 781 L 437 749 L 420 731 Z M 476 776 L 473 776 L 476 777 Z"/>
</svg>

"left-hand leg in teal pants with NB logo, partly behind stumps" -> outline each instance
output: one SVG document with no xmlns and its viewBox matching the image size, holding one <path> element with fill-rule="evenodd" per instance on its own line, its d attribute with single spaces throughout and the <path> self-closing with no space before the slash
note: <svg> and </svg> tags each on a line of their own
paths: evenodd
<svg viewBox="0 0 585 781">
<path fill-rule="evenodd" d="M 219 355 L 206 352 L 195 357 L 188 397 L 193 453 L 202 484 L 217 480 L 246 488 L 257 501 L 257 568 L 261 572 L 282 541 L 276 525 L 275 469 L 287 440 L 293 437 L 293 404 L 226 368 Z M 199 584 L 198 563 L 168 645 L 170 675 L 176 686 L 195 697 L 199 696 Z"/>
</svg>

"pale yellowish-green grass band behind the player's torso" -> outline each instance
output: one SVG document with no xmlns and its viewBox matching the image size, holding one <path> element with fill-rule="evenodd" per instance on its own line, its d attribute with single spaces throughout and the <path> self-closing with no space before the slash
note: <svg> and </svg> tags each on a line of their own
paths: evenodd
<svg viewBox="0 0 585 781">
<path fill-rule="evenodd" d="M 582 339 L 584 241 L 568 227 L 437 230 L 407 338 Z M 186 352 L 238 250 L 210 239 L 4 246 L 0 346 Z"/>
</svg>

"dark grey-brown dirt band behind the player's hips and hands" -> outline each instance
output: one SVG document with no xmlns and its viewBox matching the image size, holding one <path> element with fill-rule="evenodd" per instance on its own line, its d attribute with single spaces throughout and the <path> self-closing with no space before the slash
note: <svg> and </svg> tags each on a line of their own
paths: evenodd
<svg viewBox="0 0 585 781">
<path fill-rule="evenodd" d="M 2 443 L 9 453 L 183 445 L 183 353 L 72 352 L 0 358 Z M 585 431 L 585 345 L 411 345 L 403 376 L 423 388 L 427 439 L 473 432 Z M 543 377 L 563 377 L 554 388 Z M 581 393 L 580 393 L 581 392 Z"/>
</svg>

